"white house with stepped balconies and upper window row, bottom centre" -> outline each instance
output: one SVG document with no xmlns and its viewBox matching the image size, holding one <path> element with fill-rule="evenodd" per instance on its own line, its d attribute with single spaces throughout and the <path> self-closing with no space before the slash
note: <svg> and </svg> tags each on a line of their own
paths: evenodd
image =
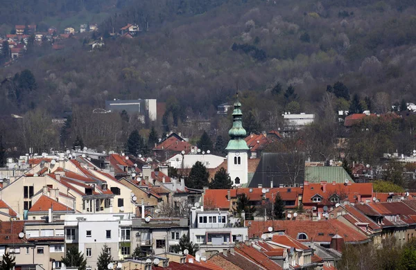
<svg viewBox="0 0 416 270">
<path fill-rule="evenodd" d="M 189 237 L 198 244 L 202 253 L 222 252 L 234 246 L 236 242 L 248 240 L 248 228 L 232 224 L 229 213 L 223 211 L 205 211 L 191 208 L 191 226 Z"/>
</svg>

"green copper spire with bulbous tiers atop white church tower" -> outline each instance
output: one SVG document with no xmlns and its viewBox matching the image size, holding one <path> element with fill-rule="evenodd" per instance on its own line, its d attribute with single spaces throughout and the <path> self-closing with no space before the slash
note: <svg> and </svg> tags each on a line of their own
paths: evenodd
<svg viewBox="0 0 416 270">
<path fill-rule="evenodd" d="M 234 111 L 232 112 L 232 128 L 229 129 L 228 135 L 231 137 L 225 150 L 249 150 L 244 138 L 247 132 L 243 127 L 243 113 L 241 112 L 241 103 L 239 102 L 239 93 L 237 100 L 234 102 Z"/>
</svg>

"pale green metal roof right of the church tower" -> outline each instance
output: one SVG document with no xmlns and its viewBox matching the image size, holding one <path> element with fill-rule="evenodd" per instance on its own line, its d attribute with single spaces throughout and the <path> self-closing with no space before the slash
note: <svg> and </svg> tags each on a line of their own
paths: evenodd
<svg viewBox="0 0 416 270">
<path fill-rule="evenodd" d="M 354 183 L 343 167 L 305 167 L 305 181 L 309 183 L 320 183 L 320 181 L 345 183 L 345 179 Z"/>
</svg>

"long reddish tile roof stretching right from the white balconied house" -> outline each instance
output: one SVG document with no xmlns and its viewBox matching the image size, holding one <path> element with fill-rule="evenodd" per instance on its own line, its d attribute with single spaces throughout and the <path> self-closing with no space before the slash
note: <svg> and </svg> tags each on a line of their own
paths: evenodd
<svg viewBox="0 0 416 270">
<path fill-rule="evenodd" d="M 251 222 L 251 224 L 249 224 Z M 367 236 L 363 232 L 356 231 L 355 228 L 343 224 L 338 219 L 328 219 L 320 221 L 310 220 L 275 220 L 272 222 L 254 222 L 246 221 L 245 225 L 249 227 L 249 237 L 261 237 L 262 233 L 268 233 L 268 227 L 274 231 L 286 231 L 286 235 L 297 239 L 298 233 L 306 233 L 307 240 L 297 240 L 299 242 L 331 242 L 333 235 L 344 237 L 345 242 L 364 242 Z"/>
</svg>

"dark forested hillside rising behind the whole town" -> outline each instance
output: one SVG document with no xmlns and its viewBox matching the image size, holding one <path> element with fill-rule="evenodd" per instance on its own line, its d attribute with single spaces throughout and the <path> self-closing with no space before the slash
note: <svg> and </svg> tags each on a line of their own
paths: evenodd
<svg viewBox="0 0 416 270">
<path fill-rule="evenodd" d="M 133 1 L 99 26 L 103 50 L 91 52 L 91 37 L 80 36 L 62 51 L 34 48 L 1 69 L 0 78 L 31 70 L 36 87 L 17 100 L 8 95 L 17 81 L 3 84 L 0 112 L 41 108 L 58 116 L 112 98 L 157 98 L 168 101 L 173 126 L 189 116 L 214 119 L 214 129 L 216 106 L 232 100 L 238 84 L 249 131 L 278 127 L 284 111 L 322 116 L 328 92 L 333 111 L 350 109 L 357 94 L 361 109 L 383 113 L 415 100 L 415 7 L 410 0 Z M 108 35 L 127 23 L 149 31 Z"/>
</svg>

